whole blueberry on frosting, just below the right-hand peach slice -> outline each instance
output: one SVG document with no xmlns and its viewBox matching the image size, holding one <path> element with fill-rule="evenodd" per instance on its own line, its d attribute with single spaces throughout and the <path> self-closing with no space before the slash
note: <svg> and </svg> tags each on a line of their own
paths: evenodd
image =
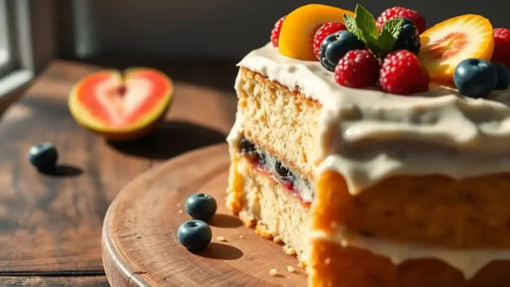
<svg viewBox="0 0 510 287">
<path fill-rule="evenodd" d="M 485 98 L 496 87 L 496 67 L 482 59 L 466 59 L 460 62 L 453 73 L 453 83 L 464 95 Z"/>
</svg>

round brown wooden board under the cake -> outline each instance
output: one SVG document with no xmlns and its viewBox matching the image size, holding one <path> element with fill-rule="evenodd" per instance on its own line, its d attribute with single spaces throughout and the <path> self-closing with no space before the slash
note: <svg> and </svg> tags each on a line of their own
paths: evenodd
<svg viewBox="0 0 510 287">
<path fill-rule="evenodd" d="M 296 258 L 225 207 L 229 165 L 226 145 L 203 148 L 147 171 L 121 190 L 103 226 L 103 262 L 113 287 L 306 285 Z M 213 241 L 200 253 L 188 251 L 176 237 L 177 228 L 191 219 L 184 203 L 195 192 L 218 201 L 210 221 Z M 274 268 L 278 275 L 269 275 Z"/>
</svg>

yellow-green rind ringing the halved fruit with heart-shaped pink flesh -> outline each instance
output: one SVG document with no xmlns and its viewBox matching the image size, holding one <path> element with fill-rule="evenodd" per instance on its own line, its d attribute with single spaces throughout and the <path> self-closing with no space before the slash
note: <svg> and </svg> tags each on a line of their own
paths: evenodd
<svg viewBox="0 0 510 287">
<path fill-rule="evenodd" d="M 126 125 L 123 127 L 112 127 L 108 123 L 105 123 L 104 121 L 101 121 L 92 115 L 91 110 L 84 106 L 79 100 L 79 92 L 83 87 L 83 84 L 93 77 L 98 77 L 100 74 L 105 73 L 112 78 L 118 79 L 119 82 L 125 82 L 129 81 L 131 77 L 135 77 L 138 73 L 142 72 L 156 73 L 156 75 L 161 77 L 166 84 L 166 93 L 158 97 L 161 100 L 159 103 L 154 103 L 154 105 L 152 105 L 152 109 L 147 111 L 147 114 L 140 116 L 140 118 L 138 118 L 136 122 L 131 125 Z M 107 138 L 133 138 L 136 137 L 136 135 L 145 134 L 144 130 L 147 130 L 148 132 L 148 128 L 150 128 L 152 124 L 155 124 L 158 119 L 164 117 L 166 111 L 171 105 L 172 99 L 173 83 L 170 78 L 168 78 L 159 70 L 153 68 L 137 67 L 126 69 L 124 70 L 123 74 L 117 70 L 101 70 L 88 75 L 87 77 L 80 80 L 77 84 L 75 84 L 71 89 L 71 92 L 69 93 L 68 107 L 72 117 L 79 125 L 95 133 L 104 135 Z"/>
</svg>

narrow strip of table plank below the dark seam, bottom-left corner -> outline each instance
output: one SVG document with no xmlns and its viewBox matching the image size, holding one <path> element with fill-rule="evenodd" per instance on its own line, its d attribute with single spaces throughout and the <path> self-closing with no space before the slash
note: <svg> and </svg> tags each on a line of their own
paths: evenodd
<svg viewBox="0 0 510 287">
<path fill-rule="evenodd" d="M 0 286 L 4 287 L 109 287 L 106 276 L 87 277 L 0 277 Z"/>
</svg>

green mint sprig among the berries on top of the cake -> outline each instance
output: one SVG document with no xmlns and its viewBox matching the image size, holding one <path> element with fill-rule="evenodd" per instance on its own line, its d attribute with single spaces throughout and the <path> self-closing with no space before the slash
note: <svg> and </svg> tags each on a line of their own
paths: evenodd
<svg viewBox="0 0 510 287">
<path fill-rule="evenodd" d="M 403 19 L 386 21 L 379 33 L 372 14 L 365 7 L 356 5 L 354 17 L 344 14 L 344 23 L 347 31 L 356 35 L 376 57 L 380 58 L 391 51 L 393 44 L 397 41 Z"/>
</svg>

